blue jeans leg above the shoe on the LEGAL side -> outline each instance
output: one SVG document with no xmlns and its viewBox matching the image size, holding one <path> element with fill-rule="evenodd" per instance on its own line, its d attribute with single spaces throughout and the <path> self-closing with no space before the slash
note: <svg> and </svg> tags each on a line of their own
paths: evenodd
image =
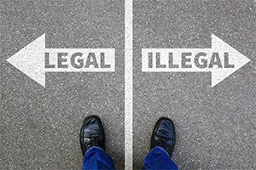
<svg viewBox="0 0 256 170">
<path fill-rule="evenodd" d="M 113 159 L 100 147 L 90 147 L 85 153 L 83 168 L 87 169 L 114 169 Z"/>
</svg>

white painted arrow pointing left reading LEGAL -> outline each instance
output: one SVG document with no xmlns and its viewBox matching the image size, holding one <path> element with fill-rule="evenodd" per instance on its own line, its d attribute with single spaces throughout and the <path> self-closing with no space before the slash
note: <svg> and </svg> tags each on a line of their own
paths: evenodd
<svg viewBox="0 0 256 170">
<path fill-rule="evenodd" d="M 7 61 L 45 88 L 45 72 L 115 70 L 114 48 L 45 48 L 45 34 Z"/>
</svg>

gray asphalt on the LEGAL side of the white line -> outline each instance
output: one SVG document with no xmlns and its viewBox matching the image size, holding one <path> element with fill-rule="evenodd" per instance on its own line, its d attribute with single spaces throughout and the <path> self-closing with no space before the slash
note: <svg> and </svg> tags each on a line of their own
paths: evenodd
<svg viewBox="0 0 256 170">
<path fill-rule="evenodd" d="M 124 3 L 1 1 L 0 169 L 81 169 L 79 130 L 102 117 L 124 167 Z M 47 48 L 115 48 L 113 73 L 47 73 L 44 89 L 5 59 L 46 33 Z"/>
</svg>

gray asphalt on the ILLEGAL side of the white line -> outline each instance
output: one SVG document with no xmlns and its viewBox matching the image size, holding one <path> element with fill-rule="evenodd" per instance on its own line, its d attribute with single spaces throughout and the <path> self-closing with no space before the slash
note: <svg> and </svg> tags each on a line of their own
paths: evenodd
<svg viewBox="0 0 256 170">
<path fill-rule="evenodd" d="M 135 1 L 134 32 L 134 167 L 168 116 L 180 169 L 255 169 L 256 2 Z M 216 87 L 211 73 L 141 71 L 142 48 L 211 48 L 212 33 L 251 59 Z"/>
</svg>

